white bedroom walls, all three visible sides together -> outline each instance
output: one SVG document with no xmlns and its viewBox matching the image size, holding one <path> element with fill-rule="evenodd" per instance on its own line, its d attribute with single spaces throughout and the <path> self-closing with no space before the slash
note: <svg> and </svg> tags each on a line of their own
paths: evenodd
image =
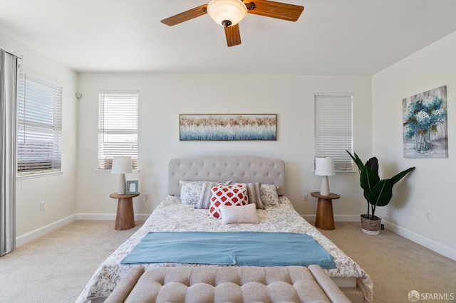
<svg viewBox="0 0 456 303">
<path fill-rule="evenodd" d="M 0 32 L 0 46 L 22 55 L 23 66 L 63 85 L 63 173 L 19 179 L 16 235 L 24 242 L 52 225 L 88 214 L 114 218 L 116 175 L 96 172 L 98 90 L 140 92 L 140 191 L 150 200 L 135 203 L 135 213 L 150 213 L 167 195 L 167 163 L 173 157 L 200 154 L 255 154 L 286 161 L 286 195 L 299 213 L 315 213 L 303 193 L 318 191 L 311 170 L 314 158 L 314 92 L 354 92 L 354 147 L 363 159 L 375 155 L 380 172 L 392 176 L 416 166 L 395 186 L 390 205 L 378 209 L 388 228 L 456 260 L 455 167 L 456 33 L 433 43 L 371 77 L 273 75 L 155 75 L 83 73 L 57 63 Z M 404 159 L 401 100 L 447 85 L 447 159 Z M 75 92 L 82 92 L 76 100 Z M 80 115 L 78 115 L 80 112 Z M 192 113 L 276 113 L 276 142 L 180 142 L 178 115 Z M 365 202 L 358 174 L 330 177 L 336 220 L 358 220 Z M 46 201 L 45 211 L 39 202 Z M 426 218 L 430 213 L 430 220 Z M 311 218 L 311 216 L 310 216 Z M 38 232 L 37 232 L 38 231 Z"/>
</svg>

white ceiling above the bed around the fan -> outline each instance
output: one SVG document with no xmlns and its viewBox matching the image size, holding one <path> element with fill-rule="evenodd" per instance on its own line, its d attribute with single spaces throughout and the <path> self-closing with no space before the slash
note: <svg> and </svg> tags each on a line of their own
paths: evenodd
<svg viewBox="0 0 456 303">
<path fill-rule="evenodd" d="M 209 0 L 0 0 L 0 31 L 84 71 L 373 75 L 456 31 L 455 0 L 276 0 L 296 22 L 248 14 L 227 47 Z"/>
</svg>

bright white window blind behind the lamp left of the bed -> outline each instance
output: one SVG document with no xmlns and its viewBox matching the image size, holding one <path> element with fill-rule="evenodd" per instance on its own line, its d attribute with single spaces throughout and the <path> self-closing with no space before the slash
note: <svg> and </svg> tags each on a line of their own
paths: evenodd
<svg viewBox="0 0 456 303">
<path fill-rule="evenodd" d="M 138 92 L 98 94 L 98 169 L 111 169 L 113 156 L 138 169 Z"/>
</svg>

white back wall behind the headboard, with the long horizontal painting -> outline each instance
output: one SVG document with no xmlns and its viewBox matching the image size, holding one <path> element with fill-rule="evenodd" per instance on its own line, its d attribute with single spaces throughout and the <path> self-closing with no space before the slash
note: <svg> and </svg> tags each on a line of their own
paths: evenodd
<svg viewBox="0 0 456 303">
<path fill-rule="evenodd" d="M 140 192 L 135 213 L 149 213 L 167 196 L 167 165 L 174 157 L 253 154 L 286 161 L 286 195 L 299 213 L 314 214 L 303 193 L 318 191 L 314 163 L 314 92 L 354 92 L 355 148 L 371 154 L 371 78 L 268 75 L 154 75 L 82 73 L 78 129 L 78 213 L 115 213 L 117 175 L 96 172 L 99 90 L 139 90 Z M 179 114 L 276 113 L 276 142 L 180 142 Z M 358 174 L 330 177 L 339 220 L 357 220 L 364 210 Z M 310 197 L 310 195 L 309 195 Z M 347 217 L 347 218 L 346 218 Z"/>
</svg>

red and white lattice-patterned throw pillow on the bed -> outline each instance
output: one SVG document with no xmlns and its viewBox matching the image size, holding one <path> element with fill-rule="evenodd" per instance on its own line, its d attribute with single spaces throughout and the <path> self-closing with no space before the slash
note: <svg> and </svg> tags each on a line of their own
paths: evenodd
<svg viewBox="0 0 456 303">
<path fill-rule="evenodd" d="M 247 188 L 243 184 L 219 185 L 211 188 L 209 218 L 221 218 L 220 206 L 242 206 L 249 204 Z"/>
</svg>

